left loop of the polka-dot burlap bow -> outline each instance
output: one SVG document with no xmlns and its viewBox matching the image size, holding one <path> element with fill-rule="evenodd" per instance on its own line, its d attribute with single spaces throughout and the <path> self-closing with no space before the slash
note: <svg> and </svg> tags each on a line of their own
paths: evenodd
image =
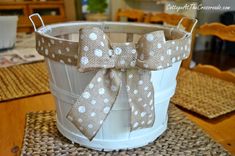
<svg viewBox="0 0 235 156">
<path fill-rule="evenodd" d="M 100 68 L 113 68 L 114 59 L 110 56 L 110 44 L 105 33 L 98 28 L 79 30 L 79 49 L 77 66 L 79 71 Z"/>
</svg>

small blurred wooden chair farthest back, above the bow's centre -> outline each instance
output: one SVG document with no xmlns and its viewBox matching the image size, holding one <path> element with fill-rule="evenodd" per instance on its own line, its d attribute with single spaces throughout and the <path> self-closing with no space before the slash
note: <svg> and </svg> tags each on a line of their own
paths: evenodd
<svg viewBox="0 0 235 156">
<path fill-rule="evenodd" d="M 145 13 L 136 9 L 118 9 L 116 13 L 116 21 L 121 21 L 121 17 L 126 17 L 127 21 L 143 22 Z"/>
</svg>

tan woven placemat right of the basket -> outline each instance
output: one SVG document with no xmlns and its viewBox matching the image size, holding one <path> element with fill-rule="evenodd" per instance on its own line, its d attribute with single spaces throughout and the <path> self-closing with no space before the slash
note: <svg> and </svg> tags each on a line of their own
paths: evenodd
<svg viewBox="0 0 235 156">
<path fill-rule="evenodd" d="M 177 82 L 176 105 L 209 119 L 235 110 L 235 83 L 183 68 Z"/>
</svg>

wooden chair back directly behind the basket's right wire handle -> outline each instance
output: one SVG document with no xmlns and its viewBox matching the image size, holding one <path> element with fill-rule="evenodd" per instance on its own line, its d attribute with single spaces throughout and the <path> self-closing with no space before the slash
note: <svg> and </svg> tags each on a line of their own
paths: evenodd
<svg viewBox="0 0 235 156">
<path fill-rule="evenodd" d="M 176 26 L 178 25 L 178 23 L 180 22 L 180 20 L 182 18 L 184 18 L 185 16 L 183 15 L 179 15 L 179 14 L 168 14 L 168 13 L 155 13 L 155 14 L 148 14 L 147 16 L 145 16 L 144 18 L 144 22 L 145 23 L 166 23 L 166 24 L 169 24 L 169 25 L 173 25 L 173 26 Z M 194 25 L 194 21 L 191 20 L 190 18 L 185 18 L 183 21 L 182 21 L 182 26 L 184 27 L 184 29 L 188 32 L 191 31 L 193 25 Z M 194 43 L 195 43 L 195 31 L 192 32 L 193 36 L 192 36 L 192 46 L 191 46 L 191 49 L 193 50 L 193 47 L 194 47 Z M 190 52 L 190 55 L 189 57 L 184 60 L 182 62 L 182 67 L 184 68 L 189 68 L 190 66 L 190 62 L 192 60 L 192 50 Z"/>
</svg>

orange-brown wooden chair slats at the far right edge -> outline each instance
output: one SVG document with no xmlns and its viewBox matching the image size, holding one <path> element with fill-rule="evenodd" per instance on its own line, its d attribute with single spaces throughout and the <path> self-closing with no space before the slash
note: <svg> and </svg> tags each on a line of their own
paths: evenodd
<svg viewBox="0 0 235 156">
<path fill-rule="evenodd" d="M 213 35 L 222 40 L 235 42 L 235 25 L 226 26 L 221 23 L 204 24 L 198 28 L 197 33 L 200 35 Z M 212 65 L 199 64 L 194 70 L 235 83 L 235 74 L 233 72 L 221 71 Z"/>
</svg>

